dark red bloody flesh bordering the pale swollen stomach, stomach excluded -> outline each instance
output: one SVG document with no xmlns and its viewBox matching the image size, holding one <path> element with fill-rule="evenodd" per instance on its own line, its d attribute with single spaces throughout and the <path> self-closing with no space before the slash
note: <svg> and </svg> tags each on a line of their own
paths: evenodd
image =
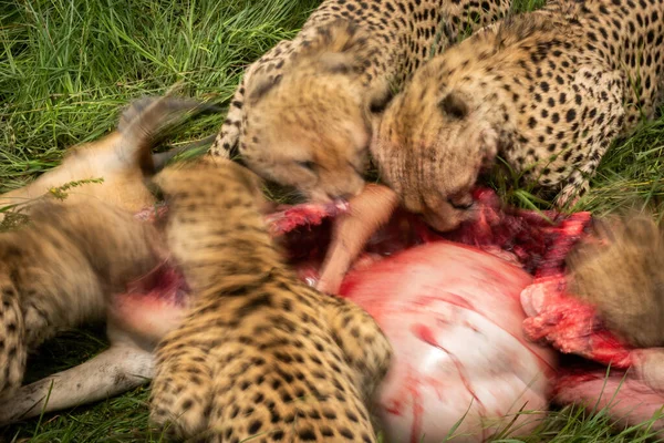
<svg viewBox="0 0 664 443">
<path fill-rule="evenodd" d="M 587 359 L 587 363 L 580 368 L 564 369 L 558 373 L 552 400 L 589 409 L 611 406 L 609 413 L 620 424 L 639 424 L 656 414 L 664 404 L 664 357 L 661 358 L 664 352 L 654 349 L 633 350 L 625 346 L 604 328 L 593 306 L 566 292 L 564 258 L 580 239 L 592 240 L 588 229 L 592 223 L 590 214 L 562 216 L 552 212 L 539 214 L 505 209 L 499 206 L 497 196 L 487 189 L 478 189 L 475 198 L 479 207 L 476 222 L 447 235 L 433 233 L 416 217 L 397 210 L 388 225 L 369 241 L 363 256 L 354 264 L 355 272 L 350 272 L 350 276 L 355 274 L 356 279 L 362 280 L 366 278 L 363 276 L 371 275 L 372 266 L 385 256 L 442 240 L 470 245 L 519 264 L 535 276 L 520 297 L 527 317 L 522 323 L 525 336 L 563 353 Z M 292 226 L 289 250 L 299 264 L 300 276 L 313 284 L 317 264 L 321 260 L 318 253 L 324 247 L 311 246 L 317 241 L 320 245 L 321 240 L 326 245 L 329 225 L 309 226 L 305 230 L 308 241 L 299 243 L 302 227 Z M 411 264 L 404 262 L 403 266 L 407 268 Z M 363 269 L 365 274 L 362 274 Z M 393 268 L 392 272 L 391 278 L 396 281 L 405 274 L 405 269 Z M 342 293 L 347 293 L 352 289 L 347 287 L 349 278 L 344 285 Z M 365 308 L 372 311 L 371 306 Z M 425 340 L 429 336 L 419 333 L 419 337 Z M 599 364 L 593 365 L 592 362 Z M 422 382 L 414 380 L 413 385 Z M 615 394 L 615 391 L 619 392 Z M 611 399 L 621 404 L 614 404 Z M 398 408 L 391 410 L 397 411 Z M 413 423 L 415 426 L 417 421 Z M 655 430 L 663 427 L 662 420 L 653 425 Z"/>
</svg>

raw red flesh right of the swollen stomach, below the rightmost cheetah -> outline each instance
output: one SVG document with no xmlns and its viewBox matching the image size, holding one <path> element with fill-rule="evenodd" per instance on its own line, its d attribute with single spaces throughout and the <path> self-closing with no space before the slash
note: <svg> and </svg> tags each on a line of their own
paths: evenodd
<svg viewBox="0 0 664 443">
<path fill-rule="evenodd" d="M 537 279 L 521 293 L 531 340 L 600 364 L 566 368 L 552 401 L 605 410 L 620 426 L 644 424 L 664 437 L 664 349 L 633 349 L 606 330 L 594 307 L 566 292 L 562 274 Z"/>
</svg>

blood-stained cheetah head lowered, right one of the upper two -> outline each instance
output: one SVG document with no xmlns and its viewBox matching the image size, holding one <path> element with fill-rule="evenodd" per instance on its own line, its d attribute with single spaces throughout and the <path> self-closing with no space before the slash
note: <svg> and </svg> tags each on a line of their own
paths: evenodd
<svg viewBox="0 0 664 443">
<path fill-rule="evenodd" d="M 381 177 L 439 231 L 474 217 L 473 188 L 497 154 L 490 110 L 470 91 L 440 85 L 435 65 L 425 65 L 387 106 L 372 142 Z"/>
</svg>

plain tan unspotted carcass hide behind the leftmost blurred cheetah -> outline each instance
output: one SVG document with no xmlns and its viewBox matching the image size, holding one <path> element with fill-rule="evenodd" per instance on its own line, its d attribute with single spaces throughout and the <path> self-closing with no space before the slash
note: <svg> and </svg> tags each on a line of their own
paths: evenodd
<svg viewBox="0 0 664 443">
<path fill-rule="evenodd" d="M 49 195 L 51 188 L 94 178 L 103 178 L 103 182 L 70 188 L 66 202 L 95 198 L 134 213 L 149 207 L 156 200 L 145 186 L 145 179 L 156 169 L 152 154 L 156 138 L 176 117 L 203 107 L 198 102 L 170 96 L 135 100 L 121 114 L 116 131 L 100 141 L 68 150 L 58 167 L 27 186 L 0 195 L 0 208 L 20 205 L 14 210 L 29 213 L 24 205 Z M 157 163 L 160 162 L 157 159 Z M 4 214 L 0 213 L 0 222 L 3 218 Z"/>
</svg>

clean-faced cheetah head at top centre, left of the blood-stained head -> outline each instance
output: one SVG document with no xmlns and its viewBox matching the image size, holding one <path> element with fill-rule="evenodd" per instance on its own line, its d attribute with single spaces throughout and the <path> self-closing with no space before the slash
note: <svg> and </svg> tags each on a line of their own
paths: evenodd
<svg viewBox="0 0 664 443">
<path fill-rule="evenodd" d="M 279 75 L 251 76 L 239 141 L 247 166 L 317 203 L 363 189 L 372 130 L 390 100 L 386 83 L 362 80 L 365 38 L 347 23 L 325 32 Z"/>
</svg>

